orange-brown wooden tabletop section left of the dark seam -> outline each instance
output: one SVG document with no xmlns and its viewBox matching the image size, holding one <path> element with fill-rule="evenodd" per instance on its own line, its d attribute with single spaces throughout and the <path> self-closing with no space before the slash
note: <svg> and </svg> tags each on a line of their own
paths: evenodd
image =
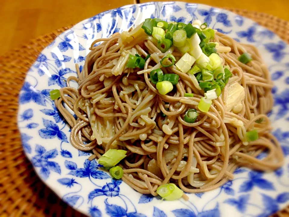
<svg viewBox="0 0 289 217">
<path fill-rule="evenodd" d="M 136 0 L 0 0 L 0 55 L 30 39 Z"/>
</svg>

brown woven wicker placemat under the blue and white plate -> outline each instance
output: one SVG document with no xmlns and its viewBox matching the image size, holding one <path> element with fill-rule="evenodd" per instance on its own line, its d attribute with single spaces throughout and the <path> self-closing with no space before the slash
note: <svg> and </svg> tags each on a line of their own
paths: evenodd
<svg viewBox="0 0 289 217">
<path fill-rule="evenodd" d="M 263 13 L 228 10 L 255 20 L 289 43 L 287 21 Z M 18 94 L 26 72 L 42 49 L 70 27 L 40 36 L 0 57 L 0 217 L 84 216 L 39 180 L 23 153 L 17 128 Z M 277 215 L 289 216 L 289 208 Z"/>
</svg>

